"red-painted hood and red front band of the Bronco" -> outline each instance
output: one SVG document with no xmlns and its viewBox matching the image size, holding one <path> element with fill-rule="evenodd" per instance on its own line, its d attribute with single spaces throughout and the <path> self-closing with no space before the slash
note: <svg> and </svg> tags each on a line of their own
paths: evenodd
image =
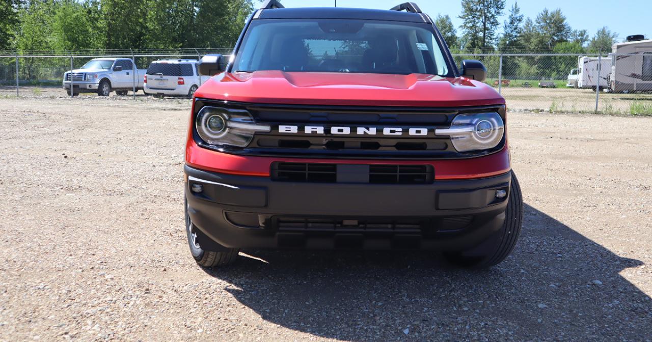
<svg viewBox="0 0 652 342">
<path fill-rule="evenodd" d="M 349 74 L 258 71 L 221 74 L 196 91 L 197 98 L 255 104 L 313 104 L 340 106 L 491 106 L 505 104 L 488 85 L 467 78 L 441 78 L 425 74 Z M 194 104 L 193 104 L 194 106 Z M 192 115 L 186 143 L 186 164 L 231 175 L 269 177 L 273 162 L 329 164 L 430 164 L 437 180 L 471 179 L 501 175 L 511 169 L 509 148 L 457 160 L 350 160 L 239 156 L 204 149 L 192 139 Z"/>
</svg>

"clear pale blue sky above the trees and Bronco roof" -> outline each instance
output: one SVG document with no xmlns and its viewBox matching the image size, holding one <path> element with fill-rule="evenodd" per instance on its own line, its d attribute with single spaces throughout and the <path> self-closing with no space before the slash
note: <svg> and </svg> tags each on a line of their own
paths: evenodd
<svg viewBox="0 0 652 342">
<path fill-rule="evenodd" d="M 389 9 L 408 0 L 281 0 L 281 3 L 285 7 L 333 7 L 334 1 L 337 1 L 338 7 Z M 413 2 L 433 18 L 437 14 L 448 14 L 456 28 L 462 23 L 457 18 L 462 12 L 462 0 L 413 0 Z M 507 0 L 505 15 L 499 20 L 501 28 L 514 2 L 514 0 Z M 628 35 L 639 34 L 652 37 L 651 0 L 520 0 L 518 6 L 522 14 L 533 20 L 544 8 L 550 10 L 561 8 L 572 29 L 587 30 L 589 38 L 603 26 L 618 33 L 618 40 L 624 40 Z"/>
</svg>

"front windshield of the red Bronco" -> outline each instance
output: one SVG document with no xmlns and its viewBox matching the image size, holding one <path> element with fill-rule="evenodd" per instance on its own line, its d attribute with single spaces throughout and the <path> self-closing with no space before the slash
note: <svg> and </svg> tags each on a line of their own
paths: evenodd
<svg viewBox="0 0 652 342">
<path fill-rule="evenodd" d="M 432 25 L 339 19 L 254 20 L 231 70 L 449 74 Z"/>
</svg>

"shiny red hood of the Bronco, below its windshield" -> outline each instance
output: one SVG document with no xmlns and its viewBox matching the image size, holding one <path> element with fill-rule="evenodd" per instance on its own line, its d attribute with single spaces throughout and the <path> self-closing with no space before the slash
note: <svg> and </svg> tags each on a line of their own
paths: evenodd
<svg viewBox="0 0 652 342">
<path fill-rule="evenodd" d="M 195 96 L 261 104 L 340 106 L 449 107 L 505 103 L 492 87 L 467 78 L 278 70 L 220 74 L 204 83 Z"/>
</svg>

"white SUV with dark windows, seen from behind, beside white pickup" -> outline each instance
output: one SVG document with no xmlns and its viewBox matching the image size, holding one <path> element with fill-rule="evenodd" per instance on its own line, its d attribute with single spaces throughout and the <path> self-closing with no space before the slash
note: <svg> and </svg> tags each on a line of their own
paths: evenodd
<svg viewBox="0 0 652 342">
<path fill-rule="evenodd" d="M 151 95 L 192 98 L 208 79 L 209 76 L 200 76 L 196 59 L 160 59 L 149 64 L 143 90 Z"/>
</svg>

